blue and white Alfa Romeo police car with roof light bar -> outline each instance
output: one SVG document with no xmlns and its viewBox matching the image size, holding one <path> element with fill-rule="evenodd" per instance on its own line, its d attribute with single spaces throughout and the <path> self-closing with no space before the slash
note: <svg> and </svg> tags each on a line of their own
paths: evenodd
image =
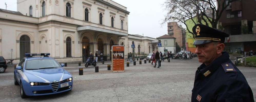
<svg viewBox="0 0 256 102">
<path fill-rule="evenodd" d="M 57 94 L 72 90 L 72 75 L 50 53 L 26 53 L 14 69 L 14 84 L 21 97 Z"/>
</svg>

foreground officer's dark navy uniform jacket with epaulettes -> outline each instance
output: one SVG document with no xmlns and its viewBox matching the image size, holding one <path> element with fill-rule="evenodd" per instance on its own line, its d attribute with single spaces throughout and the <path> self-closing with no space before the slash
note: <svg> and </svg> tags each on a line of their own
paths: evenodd
<svg viewBox="0 0 256 102">
<path fill-rule="evenodd" d="M 254 102 L 245 77 L 223 52 L 211 64 L 204 63 L 195 74 L 191 102 Z"/>
</svg>

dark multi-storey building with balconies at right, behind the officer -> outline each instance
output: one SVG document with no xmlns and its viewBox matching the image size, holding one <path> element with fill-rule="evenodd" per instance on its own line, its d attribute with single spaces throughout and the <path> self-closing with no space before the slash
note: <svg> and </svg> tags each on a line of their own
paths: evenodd
<svg viewBox="0 0 256 102">
<path fill-rule="evenodd" d="M 227 0 L 225 0 L 225 4 L 228 4 Z M 255 10 L 256 1 L 230 1 L 219 20 L 219 29 L 230 34 L 225 41 L 226 51 L 256 51 Z"/>
</svg>

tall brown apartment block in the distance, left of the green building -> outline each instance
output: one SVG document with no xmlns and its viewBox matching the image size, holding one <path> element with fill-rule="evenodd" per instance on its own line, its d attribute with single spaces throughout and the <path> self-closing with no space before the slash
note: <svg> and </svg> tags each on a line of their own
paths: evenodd
<svg viewBox="0 0 256 102">
<path fill-rule="evenodd" d="M 186 50 L 186 30 L 178 25 L 177 22 L 168 22 L 168 35 L 176 38 L 176 42 L 181 50 Z"/>
</svg>

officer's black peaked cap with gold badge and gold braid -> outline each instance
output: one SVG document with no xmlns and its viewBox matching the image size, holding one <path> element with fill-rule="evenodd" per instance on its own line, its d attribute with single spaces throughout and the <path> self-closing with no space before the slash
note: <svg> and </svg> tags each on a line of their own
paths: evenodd
<svg viewBox="0 0 256 102">
<path fill-rule="evenodd" d="M 224 42 L 225 37 L 229 37 L 229 34 L 203 24 L 196 24 L 192 30 L 195 34 L 194 45 L 201 45 L 213 41 Z"/>
</svg>

